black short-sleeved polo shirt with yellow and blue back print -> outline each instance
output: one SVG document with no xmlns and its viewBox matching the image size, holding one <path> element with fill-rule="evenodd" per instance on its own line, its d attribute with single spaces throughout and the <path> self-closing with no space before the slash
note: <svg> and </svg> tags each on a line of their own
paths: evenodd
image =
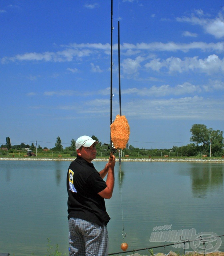
<svg viewBox="0 0 224 256">
<path fill-rule="evenodd" d="M 74 217 L 107 225 L 110 217 L 104 198 L 98 195 L 106 187 L 94 165 L 77 156 L 67 172 L 68 219 Z"/>
</svg>

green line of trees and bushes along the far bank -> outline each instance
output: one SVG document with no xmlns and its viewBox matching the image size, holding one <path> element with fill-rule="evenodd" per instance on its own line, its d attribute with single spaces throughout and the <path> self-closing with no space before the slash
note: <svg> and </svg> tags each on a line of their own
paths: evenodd
<svg viewBox="0 0 224 256">
<path fill-rule="evenodd" d="M 126 148 L 122 150 L 122 155 L 129 155 L 133 157 L 149 157 L 149 156 L 197 156 L 197 155 L 207 155 L 210 156 L 222 156 L 224 155 L 224 144 L 223 144 L 223 131 L 213 130 L 212 128 L 207 128 L 204 124 L 194 124 L 191 129 L 190 141 L 192 143 L 185 146 L 173 146 L 170 149 L 145 149 L 145 148 L 135 148 L 129 143 Z M 92 139 L 97 140 L 99 143 L 96 145 L 97 156 L 108 156 L 110 145 L 102 144 L 99 139 L 93 135 Z M 25 145 L 21 143 L 20 145 L 11 145 L 10 138 L 6 137 L 6 144 L 1 145 L 1 148 L 7 148 L 10 153 L 16 150 L 23 151 L 25 148 L 29 148 L 34 152 L 49 151 L 47 147 L 42 148 L 40 145 L 36 146 L 34 143 L 31 145 Z M 2 151 L 2 150 L 1 150 Z M 70 146 L 63 148 L 62 142 L 59 136 L 56 138 L 55 147 L 50 149 L 51 152 L 56 153 L 68 153 L 71 156 L 76 155 L 75 150 L 75 140 L 72 139 Z"/>
</svg>

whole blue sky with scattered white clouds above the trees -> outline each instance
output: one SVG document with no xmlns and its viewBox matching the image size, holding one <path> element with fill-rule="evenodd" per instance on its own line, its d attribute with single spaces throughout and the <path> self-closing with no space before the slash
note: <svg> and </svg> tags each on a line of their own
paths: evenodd
<svg viewBox="0 0 224 256">
<path fill-rule="evenodd" d="M 113 0 L 113 119 L 118 21 L 129 144 L 186 145 L 193 124 L 223 131 L 223 1 Z M 111 1 L 2 0 L 0 24 L 0 144 L 108 143 Z"/>
</svg>

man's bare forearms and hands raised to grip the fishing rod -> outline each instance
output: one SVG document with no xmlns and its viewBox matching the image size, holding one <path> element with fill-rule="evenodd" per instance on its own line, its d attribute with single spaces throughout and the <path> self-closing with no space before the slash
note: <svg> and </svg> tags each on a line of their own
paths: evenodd
<svg viewBox="0 0 224 256">
<path fill-rule="evenodd" d="M 105 177 L 107 174 L 107 180 L 106 180 L 107 187 L 98 193 L 101 197 L 105 199 L 110 199 L 112 197 L 112 193 L 114 189 L 114 166 L 115 166 L 115 156 L 113 155 L 112 157 L 109 158 L 109 161 L 106 164 L 105 168 L 100 172 L 100 176 L 104 175 Z"/>
</svg>

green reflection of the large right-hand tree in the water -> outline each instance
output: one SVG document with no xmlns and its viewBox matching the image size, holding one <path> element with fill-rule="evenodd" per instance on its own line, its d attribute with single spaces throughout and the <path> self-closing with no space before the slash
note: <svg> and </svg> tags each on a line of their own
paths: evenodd
<svg viewBox="0 0 224 256">
<path fill-rule="evenodd" d="M 223 166 L 194 165 L 190 168 L 192 192 L 195 197 L 203 197 L 208 190 L 216 191 L 223 186 Z"/>
</svg>

